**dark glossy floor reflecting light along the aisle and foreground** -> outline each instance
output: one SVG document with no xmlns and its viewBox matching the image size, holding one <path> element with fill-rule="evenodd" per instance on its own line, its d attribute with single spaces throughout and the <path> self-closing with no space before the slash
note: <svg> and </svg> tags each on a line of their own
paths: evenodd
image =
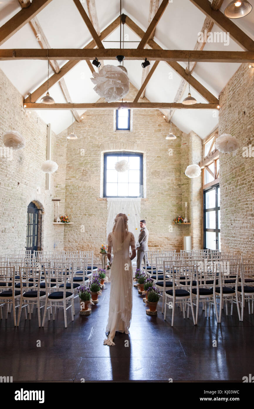
<svg viewBox="0 0 254 409">
<path fill-rule="evenodd" d="M 160 302 L 158 316 L 148 317 L 142 297 L 133 288 L 130 335 L 118 333 L 116 345 L 108 347 L 103 340 L 109 292 L 107 283 L 89 317 L 79 315 L 76 298 L 73 322 L 67 312 L 68 328 L 64 328 L 62 309 L 55 321 L 46 320 L 44 328 L 38 328 L 37 310 L 31 321 L 22 312 L 18 328 L 13 327 L 12 315 L 0 320 L 0 375 L 13 376 L 13 382 L 80 382 L 82 378 L 85 382 L 168 382 L 170 378 L 173 382 L 243 382 L 243 376 L 254 374 L 254 316 L 247 311 L 239 322 L 234 306 L 233 316 L 223 312 L 218 326 L 213 312 L 206 319 L 200 310 L 194 326 L 177 308 L 172 328 L 171 310 L 164 321 Z"/>
</svg>

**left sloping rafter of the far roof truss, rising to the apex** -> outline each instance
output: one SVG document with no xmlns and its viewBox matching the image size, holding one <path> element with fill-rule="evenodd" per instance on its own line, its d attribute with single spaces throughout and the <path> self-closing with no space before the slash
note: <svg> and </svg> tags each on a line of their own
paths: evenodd
<svg viewBox="0 0 254 409">
<path fill-rule="evenodd" d="M 106 38 L 107 36 L 109 36 L 109 34 L 111 34 L 113 31 L 115 31 L 115 29 L 117 29 L 117 27 L 120 24 L 120 18 L 117 17 L 108 27 L 106 27 L 101 34 L 101 39 L 103 40 L 104 38 Z M 95 41 L 92 40 L 90 41 L 90 43 L 88 43 L 84 48 L 88 49 L 88 48 L 94 48 L 96 47 Z M 94 51 L 94 56 L 96 55 L 96 52 Z M 49 78 L 49 88 L 51 88 L 55 83 L 57 83 L 58 81 L 60 81 L 60 79 L 67 74 L 67 72 L 69 72 L 73 67 L 75 67 L 75 65 L 77 65 L 80 62 L 80 60 L 73 60 L 73 61 L 68 61 L 68 63 L 64 64 L 61 68 L 61 71 L 58 74 L 53 74 L 50 78 Z M 88 67 L 90 68 L 91 72 L 94 72 L 95 70 L 93 69 L 93 65 L 91 64 L 91 62 L 89 60 L 86 60 Z M 37 101 L 47 90 L 47 81 L 45 81 L 42 85 L 40 85 L 40 87 L 38 87 L 35 91 L 33 91 L 27 98 L 24 99 L 24 102 L 35 102 Z M 31 97 L 31 100 L 30 100 Z"/>
</svg>

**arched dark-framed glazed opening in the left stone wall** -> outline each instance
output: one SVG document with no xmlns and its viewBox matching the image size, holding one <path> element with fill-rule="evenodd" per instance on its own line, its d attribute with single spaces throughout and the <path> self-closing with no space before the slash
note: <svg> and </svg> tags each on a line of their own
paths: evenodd
<svg viewBox="0 0 254 409">
<path fill-rule="evenodd" d="M 38 250 L 40 246 L 40 229 L 41 226 L 41 214 L 42 212 L 35 203 L 29 203 L 27 207 L 27 244 L 26 249 L 31 250 L 33 253 L 34 250 Z M 40 220 L 39 220 L 40 219 Z"/>
</svg>

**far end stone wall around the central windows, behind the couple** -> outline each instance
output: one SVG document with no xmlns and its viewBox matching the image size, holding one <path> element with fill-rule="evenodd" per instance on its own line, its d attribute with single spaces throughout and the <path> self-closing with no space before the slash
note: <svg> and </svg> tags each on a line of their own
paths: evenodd
<svg viewBox="0 0 254 409">
<path fill-rule="evenodd" d="M 126 100 L 136 93 L 131 86 Z M 190 180 L 184 175 L 188 160 L 181 163 L 183 134 L 172 124 L 177 139 L 166 140 L 169 124 L 159 110 L 133 110 L 132 115 L 131 132 L 114 131 L 113 110 L 87 110 L 84 119 L 74 123 L 78 139 L 68 140 L 66 155 L 65 213 L 74 222 L 64 230 L 67 250 L 93 249 L 98 254 L 105 242 L 107 202 L 97 200 L 102 196 L 103 153 L 121 150 L 144 154 L 146 200 L 141 200 L 141 218 L 147 220 L 150 248 L 183 248 L 190 228 L 172 225 L 177 215 L 184 215 L 184 202 L 190 202 Z M 66 134 L 67 130 L 58 137 L 66 139 Z M 191 140 L 185 138 L 188 152 Z"/>
</svg>

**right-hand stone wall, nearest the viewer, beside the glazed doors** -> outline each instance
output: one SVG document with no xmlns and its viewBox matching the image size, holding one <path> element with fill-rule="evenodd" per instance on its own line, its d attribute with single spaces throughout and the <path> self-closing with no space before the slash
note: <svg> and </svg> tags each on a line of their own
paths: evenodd
<svg viewBox="0 0 254 409">
<path fill-rule="evenodd" d="M 254 70 L 242 64 L 220 94 L 219 135 L 234 135 L 240 148 L 220 153 L 221 249 L 254 256 Z M 252 154 L 254 156 L 254 152 Z"/>
</svg>

